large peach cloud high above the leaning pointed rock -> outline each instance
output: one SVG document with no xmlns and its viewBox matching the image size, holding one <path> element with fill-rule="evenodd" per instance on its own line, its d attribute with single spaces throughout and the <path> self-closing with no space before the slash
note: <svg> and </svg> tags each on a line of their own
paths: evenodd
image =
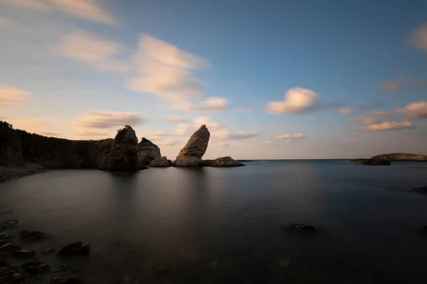
<svg viewBox="0 0 427 284">
<path fill-rule="evenodd" d="M 142 35 L 135 53 L 137 77 L 127 82 L 135 92 L 148 92 L 166 101 L 201 97 L 203 85 L 192 70 L 209 67 L 209 61 L 149 35 Z"/>
</svg>

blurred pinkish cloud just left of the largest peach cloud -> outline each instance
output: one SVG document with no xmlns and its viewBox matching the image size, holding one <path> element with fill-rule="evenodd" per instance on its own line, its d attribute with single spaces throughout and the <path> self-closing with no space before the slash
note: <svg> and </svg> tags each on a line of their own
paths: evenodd
<svg viewBox="0 0 427 284">
<path fill-rule="evenodd" d="M 65 35 L 56 45 L 56 50 L 67 58 L 85 62 L 95 70 L 117 73 L 129 70 L 126 63 L 117 60 L 125 50 L 122 45 L 85 31 Z"/>
</svg>

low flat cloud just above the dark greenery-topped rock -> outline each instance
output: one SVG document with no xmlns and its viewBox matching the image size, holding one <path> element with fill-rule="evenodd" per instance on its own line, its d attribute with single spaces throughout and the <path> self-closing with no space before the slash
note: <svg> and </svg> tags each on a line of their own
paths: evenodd
<svg viewBox="0 0 427 284">
<path fill-rule="evenodd" d="M 144 123 L 144 118 L 135 112 L 92 111 L 81 116 L 77 126 L 94 129 L 110 129 L 125 125 L 135 126 Z"/>
</svg>

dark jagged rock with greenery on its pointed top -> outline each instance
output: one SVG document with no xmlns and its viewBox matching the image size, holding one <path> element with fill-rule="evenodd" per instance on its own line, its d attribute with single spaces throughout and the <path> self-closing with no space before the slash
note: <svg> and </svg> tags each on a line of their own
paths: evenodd
<svg viewBox="0 0 427 284">
<path fill-rule="evenodd" d="M 137 135 L 130 126 L 117 131 L 110 154 L 100 162 L 101 170 L 144 170 L 147 166 L 139 160 Z"/>
</svg>

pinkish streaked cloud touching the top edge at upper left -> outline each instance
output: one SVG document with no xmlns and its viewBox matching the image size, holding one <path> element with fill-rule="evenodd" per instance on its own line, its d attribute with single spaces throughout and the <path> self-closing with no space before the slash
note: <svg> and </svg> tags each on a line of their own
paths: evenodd
<svg viewBox="0 0 427 284">
<path fill-rule="evenodd" d="M 95 0 L 2 0 L 5 4 L 19 6 L 25 9 L 32 9 L 44 12 L 61 11 L 70 16 L 83 18 L 89 21 L 105 23 L 109 25 L 117 24 L 114 16 L 105 11 Z"/>
</svg>

